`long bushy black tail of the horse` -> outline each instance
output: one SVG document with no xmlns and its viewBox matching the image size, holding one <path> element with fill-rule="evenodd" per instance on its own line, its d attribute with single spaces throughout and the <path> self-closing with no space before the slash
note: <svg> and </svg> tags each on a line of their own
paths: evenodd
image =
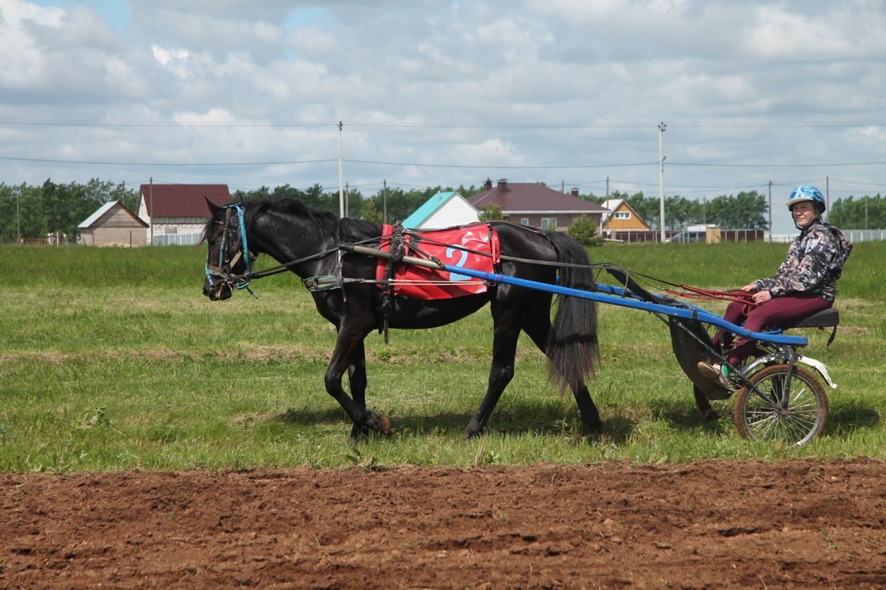
<svg viewBox="0 0 886 590">
<path fill-rule="evenodd" d="M 557 262 L 567 263 L 559 269 L 560 286 L 595 290 L 591 260 L 585 248 L 566 234 L 550 231 L 547 235 L 554 245 Z M 548 335 L 548 359 L 550 377 L 561 389 L 568 385 L 577 391 L 587 377 L 594 377 L 600 363 L 596 301 L 557 296 L 556 314 Z"/>
</svg>

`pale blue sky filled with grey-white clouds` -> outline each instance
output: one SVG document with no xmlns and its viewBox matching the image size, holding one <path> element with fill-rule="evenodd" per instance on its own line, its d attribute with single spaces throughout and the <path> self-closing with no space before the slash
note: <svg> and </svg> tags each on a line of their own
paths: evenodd
<svg viewBox="0 0 886 590">
<path fill-rule="evenodd" d="M 884 0 L 0 0 L 0 182 L 338 190 L 340 145 L 365 196 L 658 197 L 661 146 L 665 196 L 772 182 L 790 233 L 799 184 L 886 192 L 884 30 Z"/>
</svg>

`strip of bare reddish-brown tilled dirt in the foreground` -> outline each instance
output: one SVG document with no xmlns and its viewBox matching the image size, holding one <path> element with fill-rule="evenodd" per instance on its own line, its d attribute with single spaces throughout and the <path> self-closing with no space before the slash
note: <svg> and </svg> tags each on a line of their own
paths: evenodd
<svg viewBox="0 0 886 590">
<path fill-rule="evenodd" d="M 0 586 L 886 584 L 886 462 L 0 474 Z"/>
</svg>

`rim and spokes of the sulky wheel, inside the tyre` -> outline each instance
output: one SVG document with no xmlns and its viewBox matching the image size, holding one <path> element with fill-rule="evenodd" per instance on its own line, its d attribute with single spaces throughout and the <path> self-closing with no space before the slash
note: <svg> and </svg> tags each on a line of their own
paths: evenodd
<svg viewBox="0 0 886 590">
<path fill-rule="evenodd" d="M 812 384 L 794 373 L 789 395 L 784 396 L 787 378 L 787 371 L 768 375 L 757 383 L 765 397 L 761 398 L 755 392 L 748 395 L 743 419 L 751 439 L 777 439 L 803 445 L 819 430 L 821 402 Z"/>
</svg>

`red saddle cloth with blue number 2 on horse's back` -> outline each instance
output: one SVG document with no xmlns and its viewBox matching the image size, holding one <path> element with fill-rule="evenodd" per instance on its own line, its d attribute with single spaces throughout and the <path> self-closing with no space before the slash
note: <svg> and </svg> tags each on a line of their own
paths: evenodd
<svg viewBox="0 0 886 590">
<path fill-rule="evenodd" d="M 391 249 L 392 230 L 390 225 L 382 226 L 379 248 L 383 252 L 389 252 Z M 406 231 L 403 232 L 403 242 L 408 256 L 438 260 L 449 266 L 487 273 L 494 272 L 494 264 L 498 264 L 501 256 L 498 234 L 488 223 L 471 223 L 455 228 L 423 232 Z M 387 260 L 379 259 L 376 268 L 377 280 L 385 280 L 386 267 Z M 483 279 L 447 270 L 398 263 L 394 275 L 393 293 L 397 297 L 412 299 L 450 299 L 484 293 L 487 286 Z M 379 287 L 384 288 L 384 285 L 379 284 Z"/>
</svg>

